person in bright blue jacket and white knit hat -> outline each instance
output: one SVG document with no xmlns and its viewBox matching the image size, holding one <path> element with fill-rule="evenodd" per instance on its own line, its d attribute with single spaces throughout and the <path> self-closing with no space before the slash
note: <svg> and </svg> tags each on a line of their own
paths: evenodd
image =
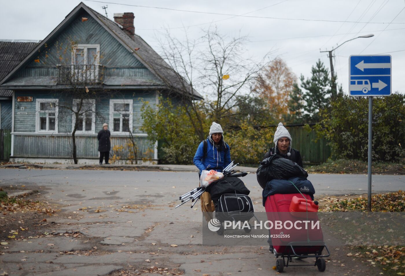
<svg viewBox="0 0 405 276">
<path fill-rule="evenodd" d="M 203 170 L 215 170 L 222 172 L 230 164 L 229 145 L 224 141 L 224 131 L 220 124 L 213 122 L 209 129 L 209 135 L 206 140 L 198 145 L 194 155 L 194 165 L 200 169 L 199 175 Z M 212 212 L 215 211 L 211 195 L 204 192 L 201 197 L 201 210 L 207 221 L 213 218 Z"/>
</svg>

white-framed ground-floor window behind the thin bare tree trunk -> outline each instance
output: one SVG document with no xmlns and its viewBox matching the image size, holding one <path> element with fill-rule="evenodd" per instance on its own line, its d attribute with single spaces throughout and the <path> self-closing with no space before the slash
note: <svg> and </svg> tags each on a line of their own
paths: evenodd
<svg viewBox="0 0 405 276">
<path fill-rule="evenodd" d="M 95 133 L 96 131 L 96 100 L 83 99 L 80 107 L 80 99 L 73 99 L 73 110 L 79 110 L 79 124 L 77 133 Z M 75 128 L 76 115 L 72 114 L 72 131 Z"/>
</svg>

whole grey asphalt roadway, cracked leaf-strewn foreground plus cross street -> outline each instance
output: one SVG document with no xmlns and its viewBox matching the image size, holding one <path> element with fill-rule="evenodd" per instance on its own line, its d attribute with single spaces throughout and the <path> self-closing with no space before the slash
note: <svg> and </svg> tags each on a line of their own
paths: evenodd
<svg viewBox="0 0 405 276">
<path fill-rule="evenodd" d="M 315 198 L 367 192 L 366 175 L 312 174 L 309 179 L 315 186 Z M 193 209 L 190 204 L 174 208 L 181 194 L 198 186 L 195 172 L 0 169 L 0 181 L 0 186 L 38 188 L 43 199 L 61 209 L 49 218 L 53 224 L 44 224 L 41 230 L 51 234 L 7 240 L 9 244 L 0 249 L 0 268 L 9 275 L 109 275 L 154 266 L 162 271 L 183 270 L 185 275 L 275 273 L 276 259 L 269 254 L 266 240 L 263 246 L 204 245 L 201 232 L 206 222 L 199 202 Z M 263 212 L 256 175 L 247 175 L 243 181 L 251 190 L 255 212 Z M 404 181 L 403 176 L 375 175 L 373 190 L 403 189 Z M 4 216 L 6 219 L 7 214 Z M 80 235 L 64 234 L 72 232 Z M 347 257 L 341 240 L 334 241 L 329 233 L 324 233 L 324 240 L 331 249 L 325 275 L 375 274 L 372 268 Z M 295 262 L 311 264 L 313 260 Z M 283 272 L 304 273 L 319 275 L 316 267 L 289 266 Z"/>
</svg>

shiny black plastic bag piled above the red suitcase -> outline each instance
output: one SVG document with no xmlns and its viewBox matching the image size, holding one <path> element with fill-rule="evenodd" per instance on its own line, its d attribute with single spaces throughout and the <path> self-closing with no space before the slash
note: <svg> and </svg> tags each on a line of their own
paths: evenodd
<svg viewBox="0 0 405 276">
<path fill-rule="evenodd" d="M 260 162 L 256 176 L 259 185 L 264 189 L 266 183 L 272 179 L 289 179 L 295 176 L 307 178 L 308 173 L 296 162 L 283 158 L 279 154 L 272 154 Z"/>
</svg>

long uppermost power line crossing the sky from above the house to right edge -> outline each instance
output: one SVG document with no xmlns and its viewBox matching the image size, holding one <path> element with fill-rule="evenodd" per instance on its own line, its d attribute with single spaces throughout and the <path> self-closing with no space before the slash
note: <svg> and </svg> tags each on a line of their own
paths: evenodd
<svg viewBox="0 0 405 276">
<path fill-rule="evenodd" d="M 97 1 L 97 0 L 85 0 L 90 2 L 98 2 L 104 4 L 116 4 L 122 6 L 132 6 L 132 7 L 139 7 L 139 8 L 157 8 L 162 10 L 169 10 L 169 11 L 183 11 L 188 13 L 204 13 L 209 15 L 227 15 L 227 16 L 234 16 L 234 17 L 249 17 L 249 18 L 262 18 L 262 19 L 278 19 L 278 20 L 294 20 L 294 21 L 318 21 L 318 22 L 336 22 L 336 23 L 369 23 L 369 24 L 390 24 L 388 22 L 362 22 L 362 21 L 341 21 L 341 20 L 325 20 L 325 19 L 305 19 L 305 18 L 282 18 L 282 17 L 267 17 L 267 16 L 253 16 L 253 15 L 233 15 L 228 13 L 212 13 L 212 12 L 203 12 L 203 11 L 189 11 L 189 10 L 179 10 L 175 8 L 163 8 L 163 7 L 154 7 L 154 6 L 141 6 L 141 5 L 130 5 L 130 4 L 122 4 L 122 3 L 115 3 L 115 2 L 105 2 L 105 1 Z M 396 22 L 393 24 L 405 24 L 405 22 Z"/>
</svg>

